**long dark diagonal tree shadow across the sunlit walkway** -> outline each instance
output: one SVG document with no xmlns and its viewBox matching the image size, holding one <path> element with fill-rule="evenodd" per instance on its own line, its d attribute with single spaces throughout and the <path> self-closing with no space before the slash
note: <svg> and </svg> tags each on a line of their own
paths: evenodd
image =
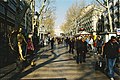
<svg viewBox="0 0 120 80">
<path fill-rule="evenodd" d="M 13 76 L 10 80 L 13 80 L 13 79 L 14 79 L 14 80 L 20 80 L 22 77 L 28 75 L 29 73 L 35 71 L 36 69 L 38 69 L 38 68 L 40 68 L 40 67 L 43 67 L 43 66 L 45 66 L 45 65 L 47 65 L 47 64 L 50 64 L 53 60 L 57 59 L 59 56 L 66 54 L 66 52 L 64 52 L 64 53 L 61 53 L 61 54 L 57 55 L 54 51 L 51 51 L 51 53 L 54 55 L 53 58 L 51 58 L 51 59 L 47 60 L 46 62 L 41 63 L 41 64 L 39 64 L 39 65 L 37 65 L 37 66 L 35 66 L 35 67 L 33 67 L 33 68 L 30 68 L 30 69 L 27 70 L 27 71 L 24 71 L 24 72 L 21 72 L 21 73 L 16 74 L 16 75 Z M 48 79 L 48 80 L 50 80 L 50 79 Z M 59 80 L 59 79 L 56 79 L 56 80 Z M 62 79 L 60 79 L 60 80 L 62 80 Z M 63 79 L 63 80 L 65 80 L 65 79 Z"/>
</svg>

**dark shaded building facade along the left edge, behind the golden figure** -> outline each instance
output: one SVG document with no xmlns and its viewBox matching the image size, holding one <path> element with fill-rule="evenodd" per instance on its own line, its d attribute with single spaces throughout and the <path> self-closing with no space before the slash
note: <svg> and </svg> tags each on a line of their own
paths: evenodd
<svg viewBox="0 0 120 80">
<path fill-rule="evenodd" d="M 19 1 L 19 8 L 18 2 Z M 32 30 L 32 15 L 34 13 L 34 0 L 31 6 L 27 9 L 25 15 L 21 20 L 21 27 L 24 34 Z M 22 14 L 25 7 L 25 2 L 20 0 L 7 0 L 7 2 L 0 1 L 0 68 L 15 61 L 15 55 L 12 55 L 9 47 L 9 36 L 13 30 L 17 30 L 18 14 Z M 18 12 L 19 9 L 19 12 Z"/>
</svg>

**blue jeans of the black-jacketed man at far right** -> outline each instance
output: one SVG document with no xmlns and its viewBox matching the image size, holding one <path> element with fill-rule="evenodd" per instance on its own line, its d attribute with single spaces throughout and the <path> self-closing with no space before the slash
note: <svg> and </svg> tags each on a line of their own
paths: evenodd
<svg viewBox="0 0 120 80">
<path fill-rule="evenodd" d="M 116 58 L 114 59 L 108 59 L 108 76 L 110 78 L 114 77 L 114 66 L 115 66 Z"/>
</svg>

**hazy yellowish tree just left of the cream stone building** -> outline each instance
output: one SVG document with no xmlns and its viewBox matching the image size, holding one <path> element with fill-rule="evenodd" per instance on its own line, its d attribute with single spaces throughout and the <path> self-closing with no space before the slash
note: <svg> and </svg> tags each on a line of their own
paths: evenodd
<svg viewBox="0 0 120 80">
<path fill-rule="evenodd" d="M 84 0 L 76 0 L 75 3 L 68 9 L 66 13 L 66 22 L 61 25 L 61 29 L 64 32 L 70 31 L 76 27 L 77 18 L 81 16 L 82 8 L 85 6 Z"/>
</svg>

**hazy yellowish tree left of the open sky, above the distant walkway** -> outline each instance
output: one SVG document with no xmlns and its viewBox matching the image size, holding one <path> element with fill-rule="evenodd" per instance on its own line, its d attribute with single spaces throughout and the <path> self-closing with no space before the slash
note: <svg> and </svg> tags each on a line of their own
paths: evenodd
<svg viewBox="0 0 120 80">
<path fill-rule="evenodd" d="M 54 34 L 55 25 L 55 0 L 46 0 L 45 8 L 41 13 L 41 24 L 44 25 L 47 32 Z"/>
</svg>

